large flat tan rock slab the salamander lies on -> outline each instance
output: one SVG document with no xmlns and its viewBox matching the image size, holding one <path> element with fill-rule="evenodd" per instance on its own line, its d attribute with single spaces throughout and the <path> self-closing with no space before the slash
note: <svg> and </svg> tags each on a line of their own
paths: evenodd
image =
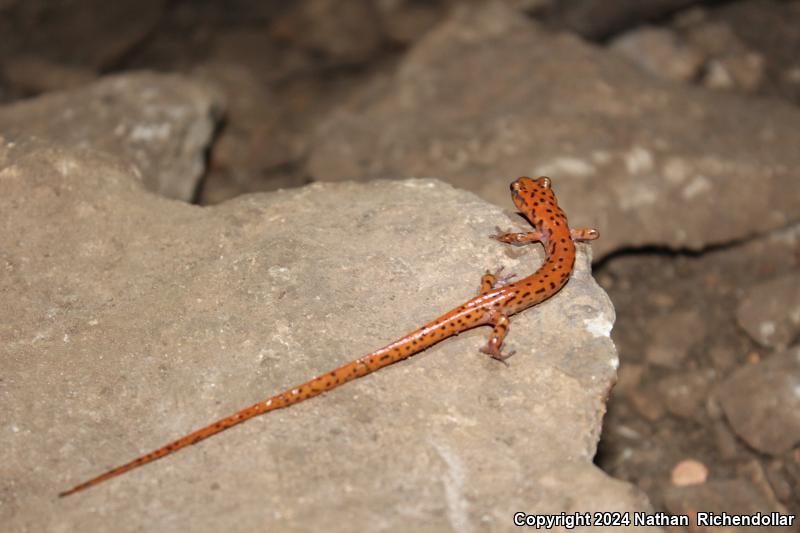
<svg viewBox="0 0 800 533">
<path fill-rule="evenodd" d="M 435 180 L 201 208 L 147 193 L 105 154 L 19 142 L 0 145 L 0 186 L 4 526 L 511 531 L 518 510 L 646 508 L 591 462 L 617 356 L 588 245 L 563 291 L 512 319 L 510 367 L 468 332 L 59 500 L 542 252 L 487 239 L 510 221 Z"/>
</svg>

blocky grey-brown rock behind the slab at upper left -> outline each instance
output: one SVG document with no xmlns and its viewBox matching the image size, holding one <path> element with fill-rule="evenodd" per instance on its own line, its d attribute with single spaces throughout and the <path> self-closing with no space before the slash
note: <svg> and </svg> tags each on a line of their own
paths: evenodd
<svg viewBox="0 0 800 533">
<path fill-rule="evenodd" d="M 110 152 L 133 162 L 152 191 L 189 201 L 222 105 L 218 92 L 181 76 L 109 76 L 0 107 L 0 135 Z"/>
</svg>

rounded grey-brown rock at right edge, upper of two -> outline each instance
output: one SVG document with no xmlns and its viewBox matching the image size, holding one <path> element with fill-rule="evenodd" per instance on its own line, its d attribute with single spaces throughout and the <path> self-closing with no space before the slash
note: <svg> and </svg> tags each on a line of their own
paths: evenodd
<svg viewBox="0 0 800 533">
<path fill-rule="evenodd" d="M 786 348 L 800 335 L 800 275 L 751 287 L 739 302 L 736 321 L 762 346 Z"/>
</svg>

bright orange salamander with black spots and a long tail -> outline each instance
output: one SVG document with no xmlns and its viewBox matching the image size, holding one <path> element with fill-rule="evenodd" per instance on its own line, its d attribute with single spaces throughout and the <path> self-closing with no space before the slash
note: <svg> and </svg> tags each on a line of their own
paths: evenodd
<svg viewBox="0 0 800 533">
<path fill-rule="evenodd" d="M 514 245 L 541 242 L 546 251 L 546 259 L 544 264 L 532 275 L 509 283 L 508 280 L 513 277 L 513 274 L 498 278 L 499 270 L 495 273 L 486 272 L 481 278 L 480 292 L 475 298 L 448 311 L 416 331 L 302 385 L 246 407 L 157 450 L 76 485 L 60 493 L 59 496 L 75 494 L 156 459 L 161 459 L 254 416 L 282 409 L 335 389 L 348 381 L 411 357 L 429 346 L 476 326 L 493 326 L 489 342 L 481 348 L 481 351 L 494 359 L 505 362 L 505 359 L 513 355 L 513 353 L 501 353 L 503 339 L 508 333 L 508 317 L 541 303 L 557 293 L 572 274 L 575 264 L 573 241 L 591 241 L 599 236 L 594 229 L 569 228 L 567 216 L 558 207 L 556 197 L 550 189 L 550 178 L 519 178 L 511 184 L 511 196 L 514 204 L 533 225 L 534 230 L 528 233 L 498 233 L 491 237 L 500 242 Z"/>
</svg>

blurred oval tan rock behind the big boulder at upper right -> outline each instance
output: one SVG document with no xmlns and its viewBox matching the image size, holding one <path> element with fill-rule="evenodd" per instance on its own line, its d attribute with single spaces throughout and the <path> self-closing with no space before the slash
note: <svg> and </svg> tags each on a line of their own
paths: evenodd
<svg viewBox="0 0 800 533">
<path fill-rule="evenodd" d="M 697 77 L 705 61 L 698 49 L 666 28 L 634 29 L 615 38 L 610 48 L 650 74 L 682 82 Z"/>
</svg>

